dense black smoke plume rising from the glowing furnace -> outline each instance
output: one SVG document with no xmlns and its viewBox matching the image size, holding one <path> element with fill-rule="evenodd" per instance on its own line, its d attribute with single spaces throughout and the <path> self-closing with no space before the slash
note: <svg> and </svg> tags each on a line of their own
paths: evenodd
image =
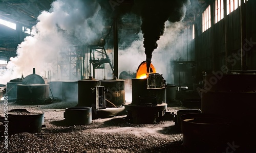
<svg viewBox="0 0 256 153">
<path fill-rule="evenodd" d="M 177 22 L 184 18 L 189 0 L 135 0 L 141 15 L 141 30 L 144 37 L 147 72 L 150 71 L 152 53 L 157 48 L 157 40 L 164 33 L 165 21 Z"/>
</svg>

